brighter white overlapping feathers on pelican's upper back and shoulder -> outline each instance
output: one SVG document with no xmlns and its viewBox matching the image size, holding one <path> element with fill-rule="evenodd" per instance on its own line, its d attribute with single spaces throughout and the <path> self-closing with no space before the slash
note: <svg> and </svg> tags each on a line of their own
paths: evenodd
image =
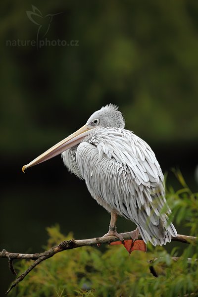
<svg viewBox="0 0 198 297">
<path fill-rule="evenodd" d="M 131 131 L 119 128 L 100 128 L 89 140 L 102 154 L 127 166 L 137 185 L 157 186 L 163 174 L 154 152 L 148 144 Z"/>
</svg>

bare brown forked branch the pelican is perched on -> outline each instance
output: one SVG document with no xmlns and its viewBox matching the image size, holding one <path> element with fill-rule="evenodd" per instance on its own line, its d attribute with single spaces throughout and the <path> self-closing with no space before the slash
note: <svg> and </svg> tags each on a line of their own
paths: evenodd
<svg viewBox="0 0 198 297">
<path fill-rule="evenodd" d="M 131 237 L 126 232 L 123 234 L 124 240 L 130 240 Z M 139 237 L 139 239 L 142 239 Z M 101 244 L 110 244 L 112 242 L 119 241 L 118 238 L 115 236 L 106 236 L 106 237 L 99 237 L 99 238 L 92 238 L 92 239 L 81 239 L 81 240 L 66 240 L 61 242 L 59 245 L 50 248 L 49 250 L 46 250 L 42 253 L 34 253 L 34 254 L 26 254 L 26 253 L 16 253 L 16 252 L 9 252 L 5 249 L 3 249 L 0 252 L 1 258 L 8 258 L 8 264 L 11 272 L 13 274 L 16 274 L 14 267 L 13 267 L 13 260 L 14 259 L 30 259 L 35 260 L 32 265 L 19 277 L 16 278 L 16 280 L 12 283 L 10 288 L 7 290 L 6 294 L 8 294 L 19 282 L 21 282 L 28 273 L 30 273 L 38 264 L 40 264 L 42 261 L 52 257 L 54 254 L 67 250 L 67 249 L 73 249 L 77 247 L 85 247 L 85 246 L 94 246 L 94 245 L 101 245 Z M 177 237 L 173 237 L 172 241 L 178 241 L 186 244 L 196 244 L 198 241 L 197 237 L 193 236 L 187 236 L 187 235 L 177 235 Z"/>
</svg>

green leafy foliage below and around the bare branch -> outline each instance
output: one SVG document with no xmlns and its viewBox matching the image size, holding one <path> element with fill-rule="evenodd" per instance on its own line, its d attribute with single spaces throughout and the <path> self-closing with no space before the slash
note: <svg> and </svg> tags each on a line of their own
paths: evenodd
<svg viewBox="0 0 198 297">
<path fill-rule="evenodd" d="M 188 235 L 198 236 L 198 193 L 187 187 L 181 173 L 176 173 L 183 189 L 167 194 L 173 216 L 179 225 L 189 228 Z M 172 219 L 172 218 L 171 218 Z M 48 228 L 49 240 L 45 249 L 66 238 L 59 227 Z M 173 256 L 180 259 L 174 261 Z M 150 263 L 150 260 L 157 258 Z M 191 258 L 189 260 L 189 258 Z M 148 252 L 134 251 L 128 255 L 122 246 L 107 247 L 104 252 L 95 247 L 81 247 L 56 254 L 42 262 L 13 290 L 17 297 L 175 297 L 198 295 L 198 247 L 183 244 L 173 247 L 148 245 Z M 18 263 L 22 273 L 31 261 Z M 157 277 L 150 272 L 155 270 Z"/>
</svg>

